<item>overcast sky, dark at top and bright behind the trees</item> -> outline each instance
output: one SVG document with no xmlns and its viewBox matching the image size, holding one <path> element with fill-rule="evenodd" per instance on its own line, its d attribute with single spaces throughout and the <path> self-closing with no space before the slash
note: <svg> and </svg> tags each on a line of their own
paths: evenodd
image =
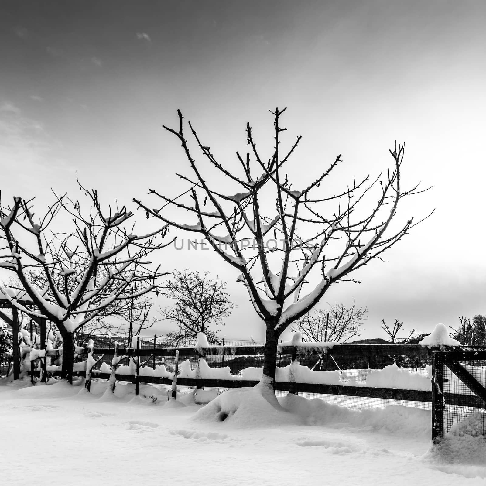
<svg viewBox="0 0 486 486">
<path fill-rule="evenodd" d="M 106 200 L 175 195 L 187 161 L 162 124 L 177 125 L 177 108 L 230 167 L 246 122 L 268 143 L 268 109 L 287 106 L 302 180 L 338 154 L 348 179 L 377 175 L 398 140 L 404 182 L 434 186 L 397 218 L 433 216 L 322 305 L 367 306 L 362 337 L 385 337 L 382 318 L 421 332 L 456 325 L 486 313 L 485 25 L 484 1 L 4 0 L 3 197 L 36 195 L 42 212 L 51 188 L 75 191 L 76 171 Z M 229 280 L 239 307 L 222 334 L 262 339 L 236 273 L 201 255 L 160 258 Z"/>
</svg>

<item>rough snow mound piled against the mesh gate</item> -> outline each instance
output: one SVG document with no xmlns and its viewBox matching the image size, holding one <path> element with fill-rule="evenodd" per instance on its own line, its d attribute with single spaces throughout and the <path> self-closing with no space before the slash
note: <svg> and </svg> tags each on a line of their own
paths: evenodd
<svg viewBox="0 0 486 486">
<path fill-rule="evenodd" d="M 455 423 L 424 459 L 442 464 L 486 464 L 486 414 L 476 413 Z M 485 469 L 486 468 L 482 468 Z"/>
</svg>

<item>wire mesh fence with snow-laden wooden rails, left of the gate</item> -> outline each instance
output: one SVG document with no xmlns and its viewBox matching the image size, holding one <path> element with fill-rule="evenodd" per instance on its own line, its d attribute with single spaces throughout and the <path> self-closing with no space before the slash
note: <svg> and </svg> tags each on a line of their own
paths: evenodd
<svg viewBox="0 0 486 486">
<path fill-rule="evenodd" d="M 178 386 L 181 389 L 204 386 L 218 392 L 253 386 L 262 376 L 264 347 L 255 346 L 253 342 L 252 346 L 247 346 L 247 343 L 225 340 L 225 346 L 220 347 L 179 348 Z M 127 375 L 134 375 L 134 382 L 166 386 L 172 380 L 170 374 L 175 371 L 175 348 L 164 347 L 164 344 L 155 339 L 154 346 L 152 339 L 140 340 L 139 350 L 119 347 L 119 356 L 125 356 L 119 363 L 117 375 L 125 381 L 129 379 Z M 384 408 L 392 404 L 431 408 L 432 356 L 423 347 L 338 345 L 331 349 L 312 347 L 309 350 L 284 346 L 280 351 L 276 370 L 278 396 L 290 391 L 308 399 L 325 399 L 353 409 Z M 97 375 L 101 379 L 108 378 L 100 372 L 110 371 L 113 348 L 95 348 L 95 359 L 102 353 L 103 359 L 94 367 L 93 378 Z M 129 359 L 129 355 L 134 354 L 140 357 L 137 378 Z M 162 365 L 164 372 L 159 373 L 161 368 L 156 367 Z M 154 372 L 148 368 L 153 368 Z"/>
</svg>

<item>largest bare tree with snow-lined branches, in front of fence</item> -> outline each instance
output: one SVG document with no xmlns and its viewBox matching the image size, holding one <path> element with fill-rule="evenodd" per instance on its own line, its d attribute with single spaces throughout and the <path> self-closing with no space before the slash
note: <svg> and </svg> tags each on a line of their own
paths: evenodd
<svg viewBox="0 0 486 486">
<path fill-rule="evenodd" d="M 255 311 L 266 325 L 263 382 L 272 388 L 281 333 L 309 312 L 332 284 L 356 281 L 349 278 L 351 272 L 371 260 L 381 259 L 383 252 L 415 226 L 409 219 L 392 230 L 390 223 L 399 201 L 421 192 L 418 185 L 410 190 L 400 186 L 404 154 L 401 145 L 390 150 L 393 168 L 374 181 L 369 182 L 367 176 L 359 183 L 353 180 L 342 191 L 329 192 L 335 185 L 327 184 L 328 176 L 342 162 L 339 155 L 308 186 L 293 188 L 283 169 L 301 137 L 297 137 L 286 151 L 281 149 L 280 136 L 286 129 L 282 128 L 280 118 L 285 109 L 276 108 L 271 112 L 274 116 L 274 148 L 269 158 L 263 157 L 257 149 L 252 129 L 247 124 L 246 139 L 250 151 L 246 156 L 236 153 L 241 176 L 217 160 L 209 144 L 199 139 L 189 123 L 201 155 L 216 169 L 218 177 L 225 177 L 224 187 L 211 184 L 214 177 L 202 174 L 202 166 L 196 162 L 189 147 L 183 116 L 178 110 L 179 126 L 164 128 L 179 140 L 189 162 L 192 176 L 179 174 L 188 183 L 188 190 L 172 198 L 150 190 L 149 194 L 162 200 L 162 207 L 158 208 L 136 200 L 147 215 L 152 214 L 181 230 L 203 235 L 214 251 L 238 271 L 237 280 L 245 285 Z M 235 192 L 231 185 L 235 186 Z M 324 188 L 327 191 L 323 191 Z M 366 213 L 366 199 L 374 190 L 378 192 L 376 200 Z M 189 212 L 196 222 L 185 224 L 183 216 L 169 216 L 164 211 L 167 205 L 186 215 Z M 274 238 L 269 244 L 272 235 Z M 308 294 L 302 295 L 302 287 L 312 278 L 317 283 Z"/>
</svg>

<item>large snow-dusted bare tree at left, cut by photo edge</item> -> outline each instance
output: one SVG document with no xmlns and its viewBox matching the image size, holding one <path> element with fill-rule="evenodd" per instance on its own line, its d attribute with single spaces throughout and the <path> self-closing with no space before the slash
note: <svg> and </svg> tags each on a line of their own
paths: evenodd
<svg viewBox="0 0 486 486">
<path fill-rule="evenodd" d="M 25 308 L 11 288 L 0 292 L 22 312 L 46 318 L 63 339 L 62 377 L 72 382 L 74 336 L 88 323 L 115 315 L 126 301 L 157 291 L 156 279 L 165 275 L 150 268 L 147 257 L 170 243 L 159 242 L 167 226 L 138 236 L 134 226 L 125 228 L 132 213 L 124 206 L 102 209 L 97 191 L 87 191 L 89 210 L 66 195 L 37 222 L 32 199 L 14 198 L 12 206 L 0 204 L 0 239 L 6 251 L 0 267 L 15 274 L 36 310 Z M 49 232 L 62 211 L 72 219 L 63 232 Z"/>
</svg>

